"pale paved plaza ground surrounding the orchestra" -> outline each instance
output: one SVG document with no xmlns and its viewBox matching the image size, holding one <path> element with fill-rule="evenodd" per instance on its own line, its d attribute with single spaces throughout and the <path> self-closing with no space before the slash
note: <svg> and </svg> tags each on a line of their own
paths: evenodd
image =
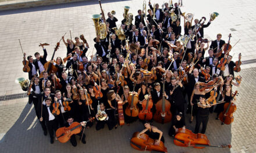
<svg viewBox="0 0 256 153">
<path fill-rule="evenodd" d="M 162 5 L 163 1 L 159 2 Z M 176 2 L 176 1 L 173 1 Z M 240 75 L 243 82 L 240 86 L 237 97 L 237 110 L 234 112 L 232 125 L 220 125 L 214 119 L 215 114 L 210 116 L 207 128 L 207 136 L 211 144 L 231 143 L 233 148 L 205 148 L 197 150 L 194 148 L 182 148 L 173 144 L 173 139 L 168 137 L 169 124 L 159 125 L 163 130 L 168 152 L 256 152 L 255 144 L 255 122 L 254 99 L 256 92 L 254 76 L 256 75 L 254 42 L 256 40 L 256 13 L 255 1 L 183 1 L 182 10 L 187 13 L 194 13 L 195 18 L 207 17 L 212 12 L 220 15 L 205 29 L 207 38 L 215 39 L 216 34 L 221 33 L 227 41 L 227 35 L 232 33 L 232 43 L 241 41 L 232 49 L 233 60 L 237 60 L 237 54 L 242 53 L 242 71 Z M 105 13 L 116 10 L 116 17 L 122 20 L 123 6 L 131 6 L 130 12 L 136 15 L 136 10 L 142 8 L 142 1 L 102 1 Z M 197 8 L 200 6 L 201 8 Z M 148 7 L 147 7 L 148 8 Z M 21 93 L 20 86 L 15 83 L 18 77 L 27 78 L 22 72 L 22 52 L 19 41 L 21 39 L 24 52 L 34 54 L 42 53 L 38 47 L 40 42 L 48 42 L 48 59 L 51 58 L 56 42 L 69 30 L 72 31 L 72 38 L 79 34 L 85 34 L 93 50 L 93 38 L 95 30 L 92 14 L 99 13 L 98 1 L 86 1 L 67 3 L 63 5 L 44 6 L 40 8 L 10 10 L 0 12 L 0 96 L 6 94 Z M 233 31 L 230 30 L 233 28 Z M 56 52 L 57 56 L 65 56 L 65 45 Z M 15 56 L 13 56 L 15 55 Z M 11 57 L 11 60 L 6 57 Z M 49 136 L 43 136 L 41 127 L 35 119 L 34 108 L 27 104 L 27 99 L 11 101 L 0 101 L 0 152 L 138 152 L 130 147 L 129 138 L 138 130 L 143 129 L 140 122 L 131 126 L 123 126 L 109 131 L 107 128 L 96 132 L 93 128 L 86 130 L 87 144 L 79 144 L 73 148 L 69 143 L 61 144 L 55 141 L 49 144 Z M 195 123 L 187 123 L 187 128 L 194 129 Z"/>
</svg>

